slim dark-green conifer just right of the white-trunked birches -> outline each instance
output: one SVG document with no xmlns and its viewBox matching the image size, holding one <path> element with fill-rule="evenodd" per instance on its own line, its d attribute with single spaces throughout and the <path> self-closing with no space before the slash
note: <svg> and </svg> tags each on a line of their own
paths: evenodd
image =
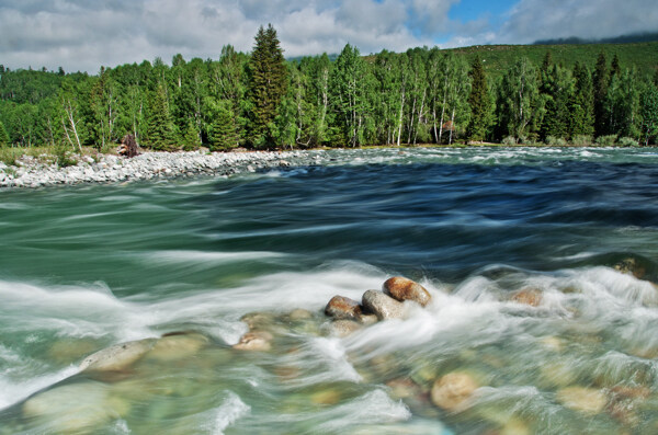
<svg viewBox="0 0 658 435">
<path fill-rule="evenodd" d="M 487 85 L 487 73 L 479 56 L 476 56 L 470 66 L 470 123 L 467 136 L 469 140 L 484 140 L 491 124 L 491 101 Z"/>
</svg>

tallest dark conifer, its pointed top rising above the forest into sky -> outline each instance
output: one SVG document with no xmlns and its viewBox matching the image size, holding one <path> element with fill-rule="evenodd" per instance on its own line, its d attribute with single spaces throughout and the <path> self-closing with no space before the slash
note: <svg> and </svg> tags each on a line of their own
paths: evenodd
<svg viewBox="0 0 658 435">
<path fill-rule="evenodd" d="M 256 35 L 256 45 L 249 62 L 249 100 L 251 103 L 251 135 L 254 146 L 271 146 L 270 123 L 287 90 L 287 70 L 276 31 L 272 24 L 262 26 Z"/>
</svg>

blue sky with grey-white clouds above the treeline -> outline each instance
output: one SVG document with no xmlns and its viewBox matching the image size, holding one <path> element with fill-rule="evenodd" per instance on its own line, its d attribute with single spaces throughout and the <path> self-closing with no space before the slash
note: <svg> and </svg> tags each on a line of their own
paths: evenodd
<svg viewBox="0 0 658 435">
<path fill-rule="evenodd" d="M 658 31 L 657 0 L 0 0 L 0 65 L 101 66 L 250 51 L 260 25 L 286 57 L 530 44 Z"/>
</svg>

